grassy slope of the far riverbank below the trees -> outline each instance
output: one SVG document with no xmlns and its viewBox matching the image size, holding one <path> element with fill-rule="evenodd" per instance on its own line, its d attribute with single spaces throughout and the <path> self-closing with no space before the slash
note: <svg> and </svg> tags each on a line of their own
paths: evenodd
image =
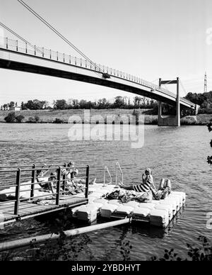
<svg viewBox="0 0 212 275">
<path fill-rule="evenodd" d="M 122 120 L 122 116 L 132 116 L 134 110 L 128 109 L 104 109 L 104 110 L 86 110 L 90 111 L 90 118 L 92 123 L 104 123 L 107 116 L 111 116 L 110 121 Z M 136 110 L 136 112 L 139 110 Z M 8 113 L 11 111 L 0 111 L 0 122 L 5 122 L 4 118 L 8 116 Z M 145 124 L 157 125 L 158 116 L 146 115 L 146 110 L 141 109 L 139 113 L 144 115 Z M 53 123 L 56 119 L 61 120 L 61 123 L 68 123 L 69 118 L 75 116 L 73 120 L 76 120 L 77 123 L 87 120 L 84 118 L 84 110 L 36 110 L 36 111 L 17 111 L 16 116 L 24 116 L 23 123 L 28 122 L 30 118 L 39 118 L 40 123 Z M 198 116 L 188 116 L 182 118 L 182 125 L 206 125 L 210 120 L 212 120 L 212 114 L 201 114 Z"/>
</svg>

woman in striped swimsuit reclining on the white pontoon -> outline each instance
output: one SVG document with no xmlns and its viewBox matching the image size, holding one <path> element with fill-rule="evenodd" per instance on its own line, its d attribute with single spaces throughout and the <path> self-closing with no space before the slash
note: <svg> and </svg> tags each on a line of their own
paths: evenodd
<svg viewBox="0 0 212 275">
<path fill-rule="evenodd" d="M 151 169 L 146 169 L 145 174 L 142 175 L 142 184 L 133 184 L 133 185 L 125 185 L 122 182 L 119 182 L 119 186 L 126 190 L 134 190 L 136 192 L 148 192 L 152 191 L 153 197 L 155 200 L 160 200 L 168 196 L 171 192 L 171 182 L 167 180 L 165 182 L 164 179 L 160 182 L 160 187 L 158 191 L 155 189 L 153 175 Z"/>
</svg>

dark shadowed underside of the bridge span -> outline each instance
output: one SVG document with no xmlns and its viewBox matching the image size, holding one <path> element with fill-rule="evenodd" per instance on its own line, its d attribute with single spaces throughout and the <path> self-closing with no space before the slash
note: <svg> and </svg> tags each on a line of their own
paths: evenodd
<svg viewBox="0 0 212 275">
<path fill-rule="evenodd" d="M 64 65 L 64 66 L 68 67 L 69 65 Z M 16 62 L 13 60 L 4 60 L 1 58 L 0 58 L 0 68 L 11 69 L 11 70 L 16 70 L 20 72 L 30 72 L 33 74 L 42 74 L 42 75 L 47 75 L 51 77 L 71 79 L 78 82 L 87 82 L 90 84 L 97 84 L 100 86 L 107 86 L 113 89 L 128 91 L 132 94 L 137 94 L 139 96 L 146 96 L 156 101 L 170 104 L 171 106 L 176 106 L 176 101 L 174 99 L 171 99 L 168 96 L 165 97 L 164 94 L 160 94 L 160 92 L 156 94 L 153 91 L 151 91 L 151 89 L 149 89 L 148 87 L 145 87 L 145 89 L 142 89 L 141 85 L 133 84 L 132 82 L 129 82 L 129 81 L 123 81 L 124 79 L 117 81 L 119 80 L 119 77 L 112 77 L 111 79 L 108 80 L 108 79 L 103 79 L 102 77 L 96 74 L 95 76 L 92 76 L 89 74 L 86 75 L 86 74 L 82 74 L 82 72 L 69 72 L 63 69 L 54 69 L 54 68 L 45 67 L 37 64 L 28 64 L 25 62 Z M 83 69 L 83 70 L 86 71 L 86 69 Z M 184 109 L 191 108 L 190 106 L 185 106 L 184 104 L 180 104 L 180 107 Z"/>
</svg>

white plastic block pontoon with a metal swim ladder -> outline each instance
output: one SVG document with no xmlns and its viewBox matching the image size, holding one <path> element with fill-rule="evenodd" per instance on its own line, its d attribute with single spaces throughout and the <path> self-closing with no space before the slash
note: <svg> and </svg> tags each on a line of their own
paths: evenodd
<svg viewBox="0 0 212 275">
<path fill-rule="evenodd" d="M 107 200 L 102 196 L 119 189 L 119 185 L 117 184 L 118 169 L 122 174 L 123 181 L 123 173 L 119 163 L 117 163 L 116 184 L 114 185 L 112 185 L 110 172 L 105 167 L 105 174 L 107 172 L 110 176 L 110 183 L 105 184 L 104 174 L 104 184 L 89 186 L 89 191 L 93 191 L 93 193 L 88 195 L 88 204 L 72 208 L 73 218 L 90 223 L 98 217 L 107 218 L 108 220 L 131 218 L 132 221 L 148 223 L 151 226 L 159 228 L 167 228 L 170 221 L 185 205 L 186 193 L 172 191 L 167 198 L 160 201 L 153 200 L 151 203 L 139 203 L 136 201 L 122 203 L 119 200 Z"/>
</svg>

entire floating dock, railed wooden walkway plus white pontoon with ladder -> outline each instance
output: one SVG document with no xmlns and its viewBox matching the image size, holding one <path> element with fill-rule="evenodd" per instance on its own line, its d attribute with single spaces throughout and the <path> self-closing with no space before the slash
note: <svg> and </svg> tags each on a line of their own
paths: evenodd
<svg viewBox="0 0 212 275">
<path fill-rule="evenodd" d="M 57 185 L 57 192 L 52 196 L 52 193 L 44 192 L 36 182 L 39 178 L 36 176 L 36 171 L 41 167 L 41 165 L 33 165 L 30 168 L 20 167 L 13 170 L 6 170 L 8 167 L 0 167 L 1 186 L 4 187 L 4 190 L 0 191 L 0 225 L 71 208 L 73 218 L 88 223 L 92 223 L 98 218 L 106 218 L 109 221 L 131 218 L 132 221 L 166 228 L 186 201 L 186 194 L 179 191 L 172 191 L 167 198 L 160 201 L 153 200 L 151 203 L 138 201 L 121 203 L 119 200 L 106 199 L 107 193 L 120 189 L 118 172 L 121 172 L 123 181 L 122 168 L 119 163 L 117 163 L 116 169 L 116 184 L 112 184 L 110 172 L 105 167 L 104 184 L 90 185 L 89 192 L 89 166 L 76 167 L 84 169 L 84 172 L 80 172 L 82 177 L 78 177 L 78 179 L 85 179 L 86 185 L 75 189 L 76 193 L 74 194 L 65 191 L 66 176 L 61 177 L 61 168 L 64 167 L 54 165 L 54 167 L 42 168 L 43 171 L 49 170 L 48 173 L 57 171 L 57 179 L 54 181 Z M 105 182 L 106 173 L 110 176 L 108 184 Z M 15 180 L 16 184 L 11 184 Z M 7 182 L 9 184 L 6 185 Z M 48 182 L 47 177 L 45 183 Z M 4 198 L 5 201 L 2 201 Z M 10 198 L 9 201 L 8 198 Z"/>
</svg>

